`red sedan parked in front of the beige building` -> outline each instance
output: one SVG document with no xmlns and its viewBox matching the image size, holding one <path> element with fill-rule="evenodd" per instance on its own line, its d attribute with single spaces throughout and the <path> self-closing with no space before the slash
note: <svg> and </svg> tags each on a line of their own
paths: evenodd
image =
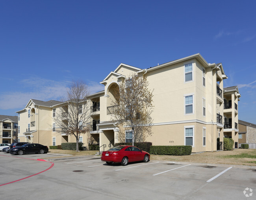
<svg viewBox="0 0 256 200">
<path fill-rule="evenodd" d="M 128 165 L 128 162 L 143 161 L 147 163 L 150 154 L 135 146 L 115 146 L 108 151 L 102 152 L 101 161 L 105 161 L 108 165 L 112 163 L 121 163 Z"/>
</svg>

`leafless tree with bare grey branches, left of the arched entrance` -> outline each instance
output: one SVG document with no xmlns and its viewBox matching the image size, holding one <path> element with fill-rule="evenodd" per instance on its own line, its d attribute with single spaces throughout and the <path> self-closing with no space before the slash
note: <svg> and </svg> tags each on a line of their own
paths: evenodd
<svg viewBox="0 0 256 200">
<path fill-rule="evenodd" d="M 61 104 L 56 109 L 54 122 L 58 133 L 66 133 L 76 137 L 76 151 L 79 151 L 78 143 L 81 134 L 89 131 L 87 123 L 90 120 L 87 96 L 88 86 L 82 81 L 73 81 L 67 89 L 67 94 L 61 99 Z"/>
</svg>

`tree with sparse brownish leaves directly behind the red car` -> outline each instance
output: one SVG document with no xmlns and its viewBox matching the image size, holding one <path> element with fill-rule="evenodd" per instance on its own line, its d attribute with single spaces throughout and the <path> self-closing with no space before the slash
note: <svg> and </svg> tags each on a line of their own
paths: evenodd
<svg viewBox="0 0 256 200">
<path fill-rule="evenodd" d="M 132 74 L 113 89 L 116 107 L 112 120 L 132 128 L 132 145 L 135 135 L 142 134 L 141 127 L 150 124 L 152 113 L 152 91 L 148 89 L 146 78 Z M 147 126 L 149 127 L 149 126 Z M 137 131 L 135 131 L 137 128 Z M 139 133 L 140 132 L 140 133 Z"/>
</svg>

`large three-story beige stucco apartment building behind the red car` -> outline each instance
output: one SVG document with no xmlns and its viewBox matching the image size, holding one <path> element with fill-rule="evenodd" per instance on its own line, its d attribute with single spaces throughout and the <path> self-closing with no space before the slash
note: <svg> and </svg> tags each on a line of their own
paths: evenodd
<svg viewBox="0 0 256 200">
<path fill-rule="evenodd" d="M 110 72 L 100 82 L 104 91 L 87 98 L 90 133 L 80 139 L 84 146 L 98 143 L 103 151 L 115 143 L 131 141 L 131 128 L 115 124 L 112 115 L 118 106 L 113 105 L 113 88 L 133 73 L 147 78 L 154 95 L 152 123 L 143 124 L 150 127 L 150 132 L 142 129 L 143 137 L 135 138 L 135 142 L 191 145 L 192 152 L 223 149 L 224 136 L 238 142 L 238 89 L 223 89 L 227 76 L 222 64 L 208 63 L 200 54 L 195 54 L 148 69 L 121 63 Z M 228 106 L 231 104 L 228 108 L 225 107 L 227 103 Z M 17 112 L 20 116 L 19 138 L 47 146 L 75 141 L 71 136 L 54 131 L 53 115 L 60 106 L 63 106 L 61 102 L 53 100 L 30 100 Z M 33 126 L 32 122 L 35 122 Z M 217 142 L 218 137 L 220 142 Z"/>
</svg>

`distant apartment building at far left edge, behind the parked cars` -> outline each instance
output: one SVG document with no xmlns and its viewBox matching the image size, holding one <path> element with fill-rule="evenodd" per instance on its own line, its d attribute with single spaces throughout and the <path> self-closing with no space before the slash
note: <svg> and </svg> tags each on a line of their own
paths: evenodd
<svg viewBox="0 0 256 200">
<path fill-rule="evenodd" d="M 0 115 L 0 143 L 11 144 L 17 141 L 18 117 Z"/>
</svg>

